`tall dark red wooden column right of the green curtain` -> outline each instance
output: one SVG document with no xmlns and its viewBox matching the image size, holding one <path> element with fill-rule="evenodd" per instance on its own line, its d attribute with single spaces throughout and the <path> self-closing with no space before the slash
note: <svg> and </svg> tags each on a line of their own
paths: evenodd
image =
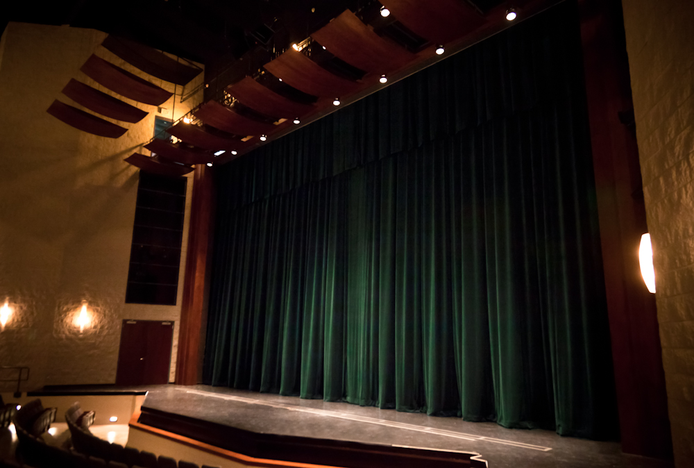
<svg viewBox="0 0 694 468">
<path fill-rule="evenodd" d="M 621 3 L 582 0 L 579 8 L 622 449 L 668 458 L 672 442 L 655 296 L 638 265 L 638 244 L 648 227 L 629 122 L 633 105 Z"/>
</svg>

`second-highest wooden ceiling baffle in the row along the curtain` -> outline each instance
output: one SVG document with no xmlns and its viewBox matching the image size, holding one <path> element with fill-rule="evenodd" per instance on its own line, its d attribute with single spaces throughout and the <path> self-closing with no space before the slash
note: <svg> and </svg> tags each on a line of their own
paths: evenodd
<svg viewBox="0 0 694 468">
<path fill-rule="evenodd" d="M 414 53 L 373 32 L 350 10 L 311 35 L 332 55 L 365 72 L 389 72 L 414 60 Z"/>
</svg>

